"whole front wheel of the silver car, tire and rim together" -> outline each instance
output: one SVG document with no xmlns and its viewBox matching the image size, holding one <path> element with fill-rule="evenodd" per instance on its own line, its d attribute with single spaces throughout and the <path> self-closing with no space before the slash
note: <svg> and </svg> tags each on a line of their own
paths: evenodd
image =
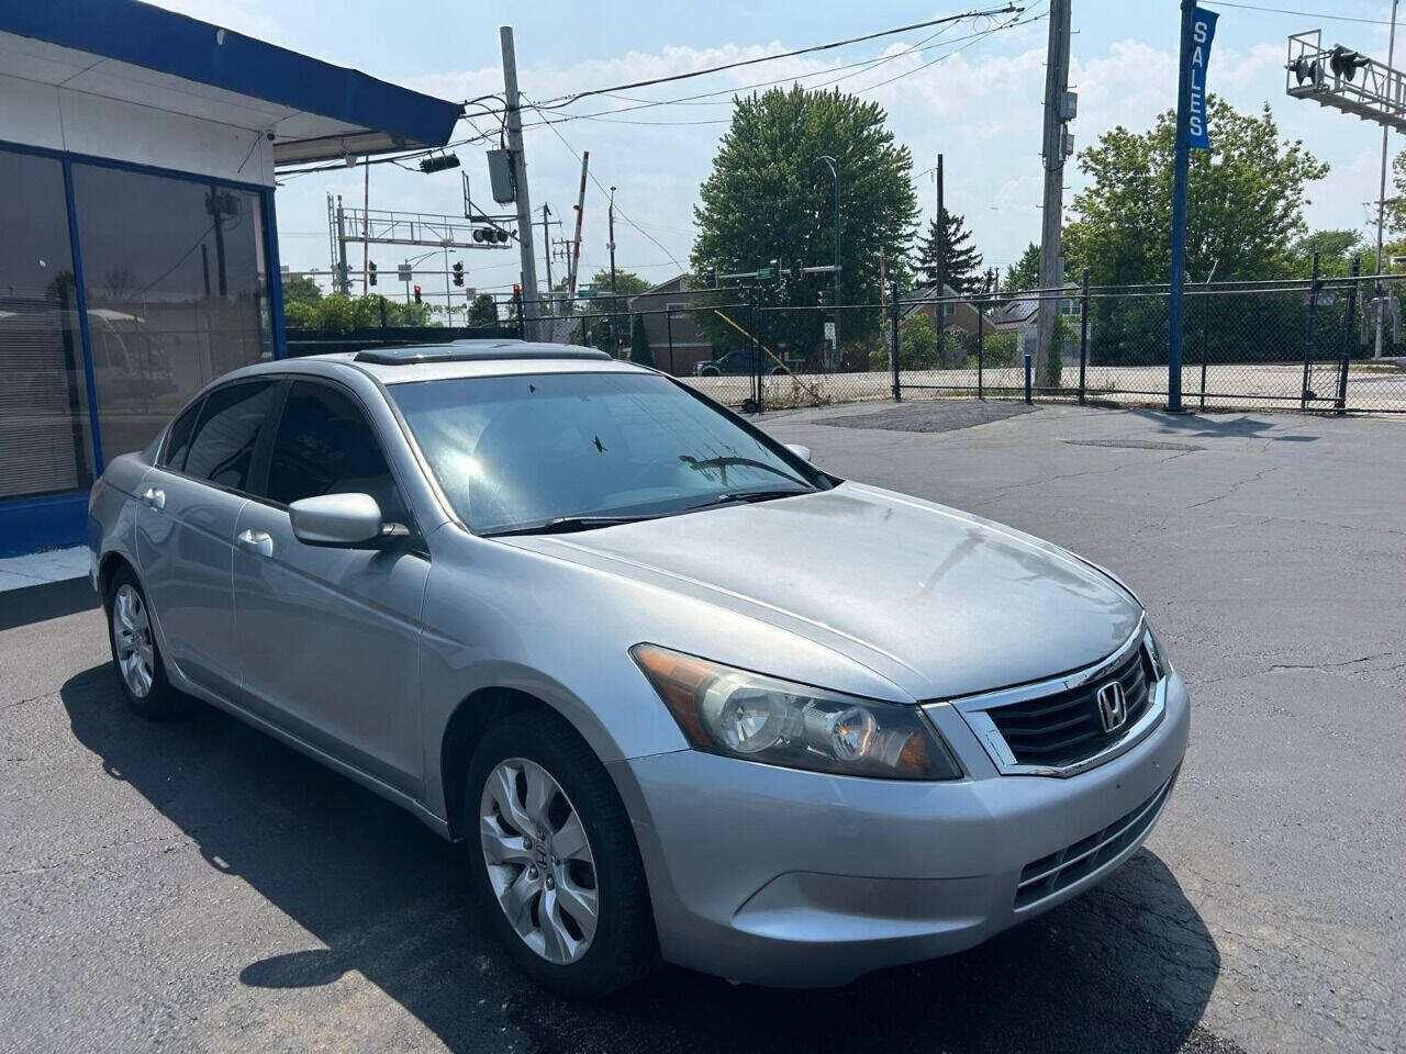
<svg viewBox="0 0 1406 1054">
<path fill-rule="evenodd" d="M 526 808 L 530 788 L 544 786 L 529 780 L 543 774 L 553 786 L 536 812 L 547 838 Z M 569 999 L 650 974 L 659 951 L 640 850 L 610 776 L 575 729 L 546 710 L 512 714 L 484 734 L 465 784 L 474 894 L 517 968 Z M 583 911 L 592 899 L 593 920 Z M 516 923 L 509 905 L 520 905 Z"/>
</svg>

